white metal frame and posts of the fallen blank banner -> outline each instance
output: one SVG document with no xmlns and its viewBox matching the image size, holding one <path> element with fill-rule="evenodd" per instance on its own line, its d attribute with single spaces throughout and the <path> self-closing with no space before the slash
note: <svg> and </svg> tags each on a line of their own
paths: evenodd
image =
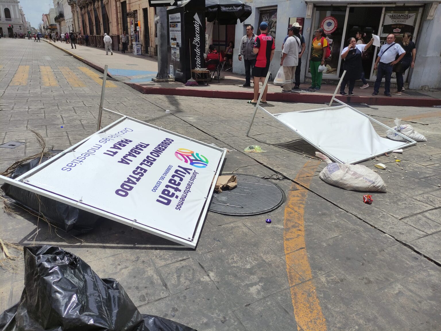
<svg viewBox="0 0 441 331">
<path fill-rule="evenodd" d="M 340 78 L 340 82 L 338 83 L 338 85 L 337 85 L 337 87 L 336 87 L 336 89 L 335 89 L 335 92 L 334 92 L 334 94 L 333 94 L 333 97 L 331 98 L 331 102 L 329 103 L 329 106 L 328 106 L 328 107 L 325 107 L 325 108 L 318 108 L 318 109 L 302 110 L 302 111 L 299 111 L 299 112 L 317 112 L 317 111 L 322 111 L 322 110 L 338 110 L 338 109 L 341 109 L 341 108 L 345 108 L 345 107 L 347 107 L 347 108 L 350 108 L 351 110 L 353 110 L 354 112 L 357 112 L 357 113 L 359 113 L 360 115 L 363 115 L 364 117 L 368 118 L 370 121 L 373 121 L 373 122 L 375 122 L 375 123 L 377 123 L 377 124 L 383 126 L 385 129 L 388 129 L 388 130 L 394 131 L 391 127 L 389 127 L 389 126 L 387 126 L 387 125 L 381 123 L 380 121 L 378 121 L 378 120 L 376 120 L 376 119 L 370 117 L 369 115 L 366 115 L 366 114 L 360 112 L 359 110 L 357 110 L 357 109 L 355 109 L 355 108 L 349 106 L 348 104 L 345 104 L 344 102 L 342 102 L 342 101 L 340 101 L 340 100 L 338 100 L 338 99 L 335 98 L 335 95 L 336 95 L 336 93 L 337 93 L 337 90 L 340 88 L 340 84 L 341 84 L 341 82 L 342 82 L 342 80 L 343 80 L 343 77 L 344 77 L 344 74 L 345 74 L 345 73 L 346 73 L 346 71 L 344 71 L 344 73 L 342 74 L 342 76 L 341 76 L 341 78 Z M 267 78 L 268 78 L 268 76 L 267 76 Z M 265 83 L 264 83 L 264 86 L 263 86 L 263 88 L 262 88 L 262 91 L 263 91 L 263 89 L 265 88 L 265 84 L 267 84 L 267 82 L 268 82 L 268 79 L 265 80 Z M 261 93 L 261 94 L 262 94 L 262 93 Z M 333 101 L 338 102 L 338 103 L 340 104 L 340 106 L 334 106 L 334 107 L 331 107 L 331 104 L 333 103 Z M 321 149 L 319 146 L 315 145 L 314 142 L 311 141 L 308 137 L 306 137 L 305 135 L 299 133 L 299 131 L 293 129 L 292 127 L 288 126 L 287 124 L 285 124 L 284 122 L 282 122 L 282 121 L 277 117 L 277 115 L 282 115 L 282 114 L 286 114 L 286 113 L 272 114 L 272 113 L 268 112 L 265 108 L 263 108 L 262 106 L 260 106 L 260 105 L 259 105 L 259 102 L 260 102 L 260 97 L 259 97 L 258 103 L 256 104 L 256 108 L 255 108 L 255 110 L 254 110 L 254 114 L 253 114 L 253 117 L 252 117 L 252 119 L 251 119 L 250 125 L 248 126 L 247 137 L 249 137 L 249 133 L 250 133 L 250 130 L 251 130 L 251 126 L 253 125 L 254 118 L 255 118 L 255 116 L 256 116 L 256 112 L 257 112 L 258 109 L 260 109 L 260 110 L 264 111 L 265 113 L 267 113 L 268 115 L 270 115 L 271 117 L 273 117 L 274 119 L 276 119 L 278 122 L 282 123 L 284 126 L 288 127 L 289 130 L 291 130 L 291 131 L 293 131 L 295 134 L 299 135 L 301 138 L 303 138 L 305 141 L 307 141 L 310 145 L 314 146 L 316 149 L 318 149 L 320 152 L 324 153 L 325 155 L 329 156 L 331 159 L 333 159 L 333 160 L 335 160 L 335 161 L 337 161 L 337 162 L 339 162 L 339 163 L 342 163 L 342 164 L 345 164 L 345 163 L 346 163 L 346 162 L 344 162 L 343 160 L 339 160 L 336 156 L 334 156 L 332 153 L 329 153 L 327 150 L 325 150 L 325 149 Z M 400 146 L 398 146 L 398 147 L 396 147 L 396 148 L 394 148 L 394 149 L 392 149 L 392 150 L 406 148 L 406 147 L 409 147 L 409 146 L 413 146 L 413 145 L 415 145 L 415 144 L 417 143 L 415 140 L 413 140 L 413 139 L 411 139 L 411 138 L 405 136 L 405 135 L 402 134 L 401 132 L 398 132 L 398 131 L 395 131 L 395 132 L 396 132 L 396 134 L 398 134 L 399 136 L 401 136 L 402 138 L 404 138 L 404 139 L 406 139 L 407 141 L 410 141 L 410 142 L 404 142 L 404 141 L 403 141 L 403 144 L 402 144 L 402 145 L 400 145 Z M 369 157 L 366 157 L 366 158 L 363 158 L 363 159 L 353 160 L 353 161 L 351 161 L 349 164 L 355 164 L 355 163 L 359 163 L 359 162 L 362 162 L 362 161 L 365 161 L 365 160 L 369 160 L 369 159 L 372 159 L 372 158 L 375 157 L 375 156 L 383 155 L 384 152 L 392 152 L 392 150 L 382 151 L 382 152 L 380 152 L 380 153 L 378 153 L 378 154 L 375 154 L 375 155 L 372 155 L 372 156 L 369 156 Z"/>
</svg>

